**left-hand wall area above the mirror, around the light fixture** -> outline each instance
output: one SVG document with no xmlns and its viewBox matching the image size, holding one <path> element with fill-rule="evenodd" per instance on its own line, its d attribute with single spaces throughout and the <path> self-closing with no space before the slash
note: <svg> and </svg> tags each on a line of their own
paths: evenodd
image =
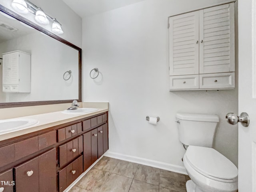
<svg viewBox="0 0 256 192">
<path fill-rule="evenodd" d="M 12 0 L 0 0 L 1 5 L 13 10 L 11 2 Z M 82 47 L 82 19 L 62 0 L 30 0 L 30 2 L 42 8 L 46 14 L 56 18 L 62 24 L 64 34 L 59 35 L 61 38 Z M 22 14 L 22 16 L 35 22 L 33 14 Z M 51 31 L 51 26 L 41 26 Z"/>
</svg>

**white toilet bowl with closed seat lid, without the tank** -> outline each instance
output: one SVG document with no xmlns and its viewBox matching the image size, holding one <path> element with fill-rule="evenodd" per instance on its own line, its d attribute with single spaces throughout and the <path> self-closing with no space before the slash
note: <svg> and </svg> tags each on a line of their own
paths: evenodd
<svg viewBox="0 0 256 192">
<path fill-rule="evenodd" d="M 213 148 L 188 146 L 183 157 L 191 180 L 187 192 L 236 192 L 238 170 L 225 156 Z"/>
</svg>

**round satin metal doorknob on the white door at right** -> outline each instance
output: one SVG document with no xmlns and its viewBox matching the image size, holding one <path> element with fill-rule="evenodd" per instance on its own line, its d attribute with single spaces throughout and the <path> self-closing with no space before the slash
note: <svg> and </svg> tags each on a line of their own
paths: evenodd
<svg viewBox="0 0 256 192">
<path fill-rule="evenodd" d="M 248 127 L 250 124 L 249 115 L 245 112 L 241 113 L 240 116 L 236 115 L 235 113 L 228 113 L 226 115 L 226 120 L 231 125 L 236 125 L 238 122 L 240 122 L 242 126 Z"/>
</svg>

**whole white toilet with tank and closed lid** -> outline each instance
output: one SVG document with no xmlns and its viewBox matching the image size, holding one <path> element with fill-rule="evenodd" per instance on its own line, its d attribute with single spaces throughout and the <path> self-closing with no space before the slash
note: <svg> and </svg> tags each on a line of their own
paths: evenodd
<svg viewBox="0 0 256 192">
<path fill-rule="evenodd" d="M 217 115 L 178 113 L 180 141 L 188 145 L 183 157 L 191 180 L 187 192 L 236 192 L 238 169 L 225 156 L 212 148 Z"/>
</svg>

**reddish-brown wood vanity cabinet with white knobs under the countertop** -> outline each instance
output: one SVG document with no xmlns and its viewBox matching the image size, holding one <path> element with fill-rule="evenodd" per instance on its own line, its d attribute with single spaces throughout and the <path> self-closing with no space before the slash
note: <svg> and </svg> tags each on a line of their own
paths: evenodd
<svg viewBox="0 0 256 192">
<path fill-rule="evenodd" d="M 0 191 L 63 192 L 108 150 L 107 115 L 0 141 Z"/>
</svg>

